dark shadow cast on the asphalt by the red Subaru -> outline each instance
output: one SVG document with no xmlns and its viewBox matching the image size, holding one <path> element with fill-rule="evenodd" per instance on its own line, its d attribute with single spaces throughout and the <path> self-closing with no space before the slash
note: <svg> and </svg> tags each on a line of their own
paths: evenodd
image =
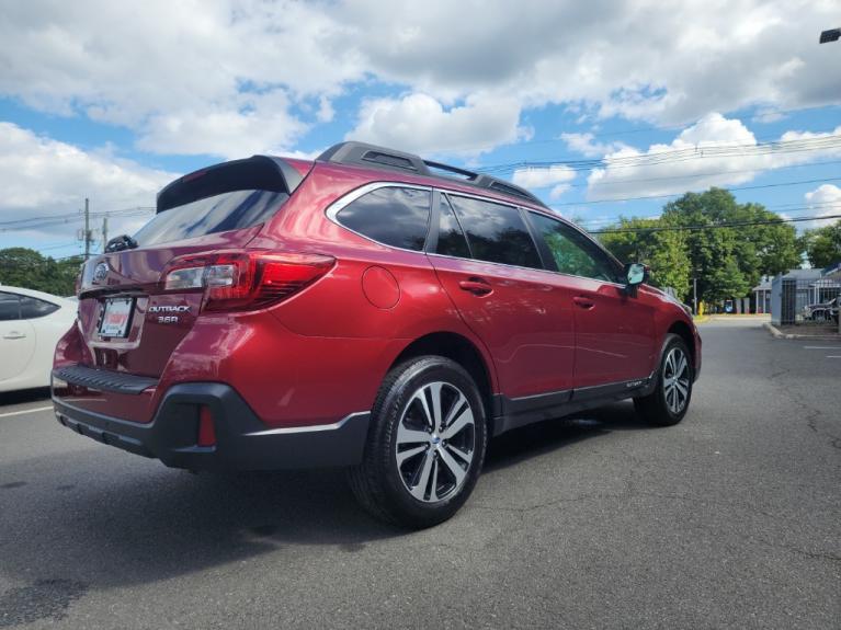
<svg viewBox="0 0 841 630">
<path fill-rule="evenodd" d="M 487 468 L 645 427 L 628 403 L 544 422 L 493 440 Z M 354 553 L 372 541 L 423 536 L 371 519 L 341 470 L 195 476 L 103 448 L 0 462 L 0 479 L 12 482 L 0 486 L 3 574 L 110 588 L 266 552 L 282 563 L 284 550 L 336 546 Z"/>
</svg>

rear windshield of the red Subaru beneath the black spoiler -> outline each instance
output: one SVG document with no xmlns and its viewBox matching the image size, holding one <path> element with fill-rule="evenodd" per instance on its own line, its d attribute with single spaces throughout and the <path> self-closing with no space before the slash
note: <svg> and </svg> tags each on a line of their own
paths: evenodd
<svg viewBox="0 0 841 630">
<path fill-rule="evenodd" d="M 249 228 L 271 218 L 288 198 L 286 193 L 271 191 L 234 191 L 205 197 L 156 215 L 134 238 L 145 248 Z"/>
</svg>

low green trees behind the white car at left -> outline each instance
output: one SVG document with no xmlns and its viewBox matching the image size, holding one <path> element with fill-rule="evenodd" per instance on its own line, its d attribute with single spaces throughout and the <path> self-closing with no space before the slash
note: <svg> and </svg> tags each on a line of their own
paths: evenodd
<svg viewBox="0 0 841 630">
<path fill-rule="evenodd" d="M 0 250 L 0 284 L 45 291 L 73 294 L 82 256 L 55 260 L 27 248 Z"/>
</svg>

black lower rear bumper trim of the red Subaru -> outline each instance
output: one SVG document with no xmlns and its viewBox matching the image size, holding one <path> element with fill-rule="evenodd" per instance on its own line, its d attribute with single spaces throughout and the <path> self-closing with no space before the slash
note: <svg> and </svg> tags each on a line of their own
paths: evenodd
<svg viewBox="0 0 841 630">
<path fill-rule="evenodd" d="M 353 466 L 362 460 L 370 420 L 368 412 L 360 412 L 334 424 L 268 428 L 231 387 L 218 382 L 171 387 L 150 423 L 80 409 L 55 390 L 53 404 L 58 422 L 81 435 L 191 470 Z M 213 417 L 214 446 L 197 445 L 203 405 Z"/>
</svg>

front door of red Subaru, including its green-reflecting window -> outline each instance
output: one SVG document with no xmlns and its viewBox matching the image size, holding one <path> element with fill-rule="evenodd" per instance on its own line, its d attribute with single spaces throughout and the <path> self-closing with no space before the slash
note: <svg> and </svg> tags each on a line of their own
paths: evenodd
<svg viewBox="0 0 841 630">
<path fill-rule="evenodd" d="M 539 213 L 530 211 L 529 217 L 544 257 L 550 257 L 571 294 L 577 393 L 648 377 L 655 353 L 654 306 L 641 291 L 639 297 L 627 294 L 620 265 L 581 231 Z"/>
</svg>

